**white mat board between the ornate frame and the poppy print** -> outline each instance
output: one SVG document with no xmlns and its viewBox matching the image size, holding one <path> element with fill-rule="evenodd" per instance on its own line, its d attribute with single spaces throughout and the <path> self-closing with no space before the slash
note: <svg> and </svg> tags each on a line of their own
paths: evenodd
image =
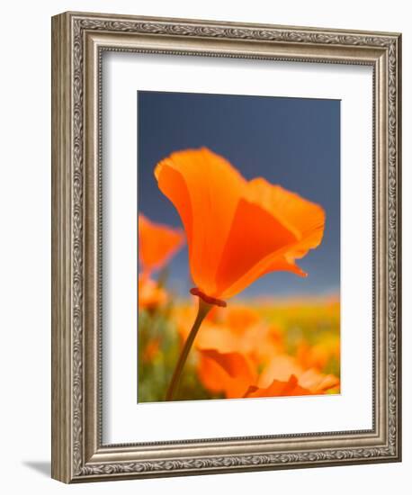
<svg viewBox="0 0 412 495">
<path fill-rule="evenodd" d="M 136 405 L 137 88 L 342 100 L 341 394 Z M 372 67 L 103 56 L 103 443 L 372 428 L 371 145 Z"/>
</svg>

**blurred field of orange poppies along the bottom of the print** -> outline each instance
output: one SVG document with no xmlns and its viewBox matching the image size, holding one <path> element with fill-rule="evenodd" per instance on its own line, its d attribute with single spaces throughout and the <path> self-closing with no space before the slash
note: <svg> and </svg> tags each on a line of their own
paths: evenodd
<svg viewBox="0 0 412 495">
<path fill-rule="evenodd" d="M 139 308 L 139 402 L 164 401 L 196 316 L 150 283 Z M 161 294 L 159 296 L 159 294 Z M 338 297 L 233 301 L 215 307 L 194 340 L 175 401 L 339 393 Z"/>
</svg>

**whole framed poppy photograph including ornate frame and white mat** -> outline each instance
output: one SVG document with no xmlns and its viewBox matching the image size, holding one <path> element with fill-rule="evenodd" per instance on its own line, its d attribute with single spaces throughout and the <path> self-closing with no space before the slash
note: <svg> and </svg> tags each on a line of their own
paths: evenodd
<svg viewBox="0 0 412 495">
<path fill-rule="evenodd" d="M 52 18 L 52 477 L 400 460 L 400 34 Z"/>
</svg>

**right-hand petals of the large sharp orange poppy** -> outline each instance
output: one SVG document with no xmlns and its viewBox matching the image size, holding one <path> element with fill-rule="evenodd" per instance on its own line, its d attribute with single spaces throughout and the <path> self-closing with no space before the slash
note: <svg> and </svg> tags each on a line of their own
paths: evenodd
<svg viewBox="0 0 412 495">
<path fill-rule="evenodd" d="M 264 221 L 264 215 L 259 211 L 264 211 L 271 221 Z M 239 202 L 238 213 L 228 238 L 227 257 L 222 259 L 221 271 L 219 269 L 220 297 L 227 299 L 236 295 L 269 272 L 307 275 L 295 264 L 295 259 L 318 247 L 322 240 L 325 211 L 318 204 L 257 178 L 248 183 L 247 202 Z M 264 246 L 264 236 L 273 236 L 277 243 Z M 263 247 L 266 247 L 265 252 Z M 245 251 L 248 257 L 244 257 Z M 239 263 L 238 257 L 242 257 L 243 264 Z M 254 257 L 255 263 L 252 263 Z M 233 264 L 237 267 L 233 268 Z"/>
</svg>

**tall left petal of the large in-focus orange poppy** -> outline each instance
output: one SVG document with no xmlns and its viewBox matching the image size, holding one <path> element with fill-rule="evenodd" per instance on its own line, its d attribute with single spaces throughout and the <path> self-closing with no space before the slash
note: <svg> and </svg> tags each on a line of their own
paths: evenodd
<svg viewBox="0 0 412 495">
<path fill-rule="evenodd" d="M 193 282 L 203 293 L 216 292 L 215 275 L 246 180 L 208 148 L 172 153 L 157 164 L 160 190 L 184 223 Z"/>
</svg>

